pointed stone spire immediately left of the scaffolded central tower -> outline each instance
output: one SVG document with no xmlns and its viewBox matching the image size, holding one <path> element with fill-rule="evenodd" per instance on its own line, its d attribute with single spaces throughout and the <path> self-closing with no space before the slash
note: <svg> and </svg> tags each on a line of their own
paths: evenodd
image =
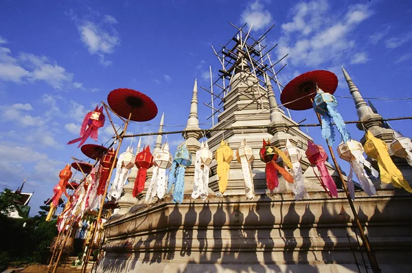
<svg viewBox="0 0 412 273">
<path fill-rule="evenodd" d="M 190 113 L 187 119 L 187 125 L 185 130 L 200 130 L 199 120 L 198 120 L 198 99 L 197 99 L 197 79 L 194 80 L 192 101 L 190 102 Z M 187 149 L 191 153 L 196 153 L 201 147 L 201 143 L 198 140 L 201 139 L 201 132 L 184 132 L 183 138 L 186 140 Z"/>
</svg>

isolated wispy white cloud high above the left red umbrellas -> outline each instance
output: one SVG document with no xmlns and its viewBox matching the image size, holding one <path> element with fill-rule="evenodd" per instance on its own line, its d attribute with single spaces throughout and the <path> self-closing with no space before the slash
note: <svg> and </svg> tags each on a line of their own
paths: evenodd
<svg viewBox="0 0 412 273">
<path fill-rule="evenodd" d="M 112 54 L 115 47 L 120 45 L 119 33 L 113 27 L 117 23 L 115 17 L 105 15 L 103 23 L 93 23 L 92 21 L 78 21 L 77 17 L 71 17 L 76 21 L 80 39 L 87 47 L 90 54 L 96 54 L 100 58 L 100 63 L 104 66 L 111 65 L 111 61 L 105 59 L 106 54 Z"/>
</svg>

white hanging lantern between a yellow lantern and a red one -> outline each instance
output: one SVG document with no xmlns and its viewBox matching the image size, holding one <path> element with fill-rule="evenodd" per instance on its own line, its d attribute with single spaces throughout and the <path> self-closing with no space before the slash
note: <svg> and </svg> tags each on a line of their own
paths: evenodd
<svg viewBox="0 0 412 273">
<path fill-rule="evenodd" d="M 246 144 L 246 140 L 242 139 L 239 148 L 236 150 L 236 161 L 242 164 L 244 191 L 248 199 L 255 197 L 251 169 L 251 162 L 253 160 L 255 160 L 255 155 L 253 155 L 251 147 Z"/>
</svg>

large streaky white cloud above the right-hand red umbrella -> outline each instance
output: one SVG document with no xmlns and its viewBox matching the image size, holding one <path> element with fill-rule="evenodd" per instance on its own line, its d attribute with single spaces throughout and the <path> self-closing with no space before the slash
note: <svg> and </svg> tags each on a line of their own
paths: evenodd
<svg viewBox="0 0 412 273">
<path fill-rule="evenodd" d="M 350 6 L 343 16 L 330 18 L 330 7 L 325 0 L 298 3 L 291 10 L 293 21 L 282 25 L 278 58 L 289 54 L 290 65 L 306 67 L 341 62 L 353 54 L 356 44 L 350 34 L 373 14 L 368 8 L 368 5 Z"/>
</svg>

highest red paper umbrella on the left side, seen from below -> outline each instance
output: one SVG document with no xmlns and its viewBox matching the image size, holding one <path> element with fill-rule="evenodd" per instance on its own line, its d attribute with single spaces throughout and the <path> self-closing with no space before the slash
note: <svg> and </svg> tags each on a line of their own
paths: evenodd
<svg viewBox="0 0 412 273">
<path fill-rule="evenodd" d="M 117 115 L 134 121 L 148 121 L 157 115 L 157 106 L 145 94 L 133 89 L 119 88 L 107 96 L 108 105 Z"/>
</svg>

